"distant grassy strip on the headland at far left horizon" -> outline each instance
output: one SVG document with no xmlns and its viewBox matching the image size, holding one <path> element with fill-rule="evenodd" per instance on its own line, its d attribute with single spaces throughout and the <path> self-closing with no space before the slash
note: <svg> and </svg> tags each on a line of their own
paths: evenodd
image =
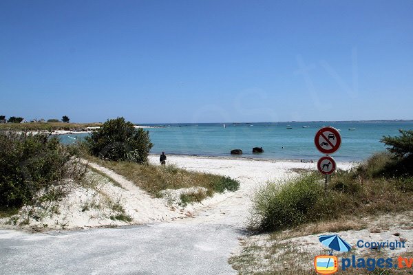
<svg viewBox="0 0 413 275">
<path fill-rule="evenodd" d="M 86 127 L 101 126 L 100 122 L 92 123 L 65 123 L 65 122 L 28 122 L 28 123 L 1 123 L 0 130 L 10 131 L 71 131 Z"/>
</svg>

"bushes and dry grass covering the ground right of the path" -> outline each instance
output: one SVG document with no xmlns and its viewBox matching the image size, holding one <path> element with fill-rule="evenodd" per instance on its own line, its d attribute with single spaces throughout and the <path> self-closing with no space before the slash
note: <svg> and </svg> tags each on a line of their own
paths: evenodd
<svg viewBox="0 0 413 275">
<path fill-rule="evenodd" d="M 253 196 L 250 228 L 267 234 L 255 234 L 244 240 L 242 252 L 231 257 L 229 263 L 239 274 L 315 274 L 310 265 L 302 263 L 312 262 L 317 252 L 300 250 L 297 248 L 300 241 L 294 243 L 291 238 L 305 239 L 309 234 L 369 227 L 370 233 L 379 233 L 395 223 L 411 228 L 413 131 L 400 133 L 381 139 L 388 146 L 387 152 L 372 155 L 352 170 L 337 171 L 326 190 L 324 178 L 317 172 L 258 188 Z M 255 241 L 255 237 L 260 242 Z M 373 251 L 366 253 L 363 256 L 374 254 Z M 407 252 L 405 256 L 411 257 L 412 253 Z M 359 269 L 357 274 L 404 272 Z"/>
</svg>

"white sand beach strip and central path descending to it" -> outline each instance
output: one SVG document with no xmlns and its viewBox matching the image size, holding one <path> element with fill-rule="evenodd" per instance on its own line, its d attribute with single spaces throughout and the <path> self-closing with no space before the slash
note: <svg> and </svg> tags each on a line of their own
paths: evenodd
<svg viewBox="0 0 413 275">
<path fill-rule="evenodd" d="M 159 164 L 158 155 L 150 155 L 152 164 Z M 253 190 L 266 183 L 295 175 L 291 169 L 317 169 L 317 164 L 282 160 L 255 160 L 240 157 L 194 157 L 168 155 L 167 164 L 204 173 L 229 176 L 240 181 L 237 192 L 225 192 L 204 199 L 202 203 L 187 206 L 185 210 L 192 217 L 191 223 L 224 223 L 244 228 L 248 218 Z M 337 167 L 349 169 L 354 163 L 338 163 Z M 183 221 L 188 222 L 188 221 Z"/>
</svg>

